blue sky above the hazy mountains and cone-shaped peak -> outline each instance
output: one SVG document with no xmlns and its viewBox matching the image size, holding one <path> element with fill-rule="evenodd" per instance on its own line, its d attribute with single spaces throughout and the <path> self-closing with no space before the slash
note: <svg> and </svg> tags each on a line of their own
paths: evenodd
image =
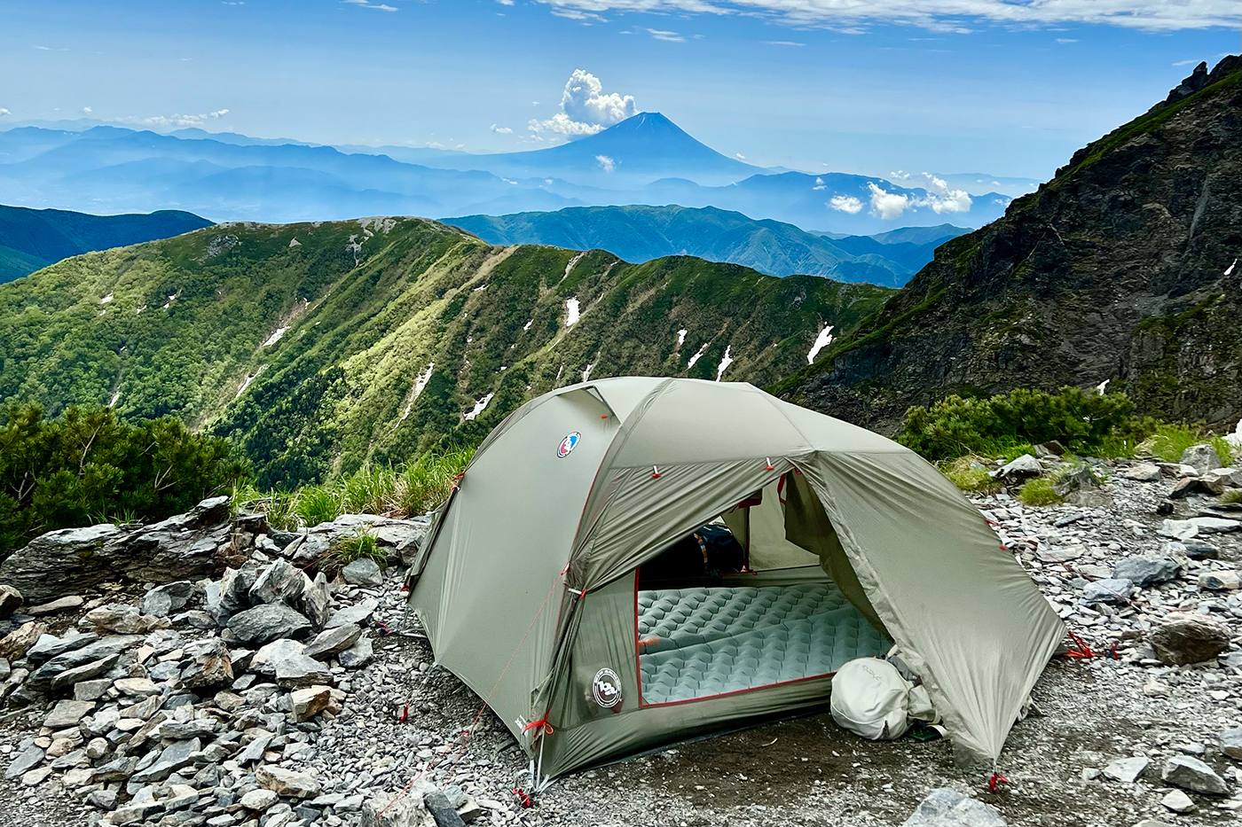
<svg viewBox="0 0 1242 827">
<path fill-rule="evenodd" d="M 0 0 L 0 128 L 504 151 L 563 139 L 532 122 L 585 70 L 602 118 L 660 111 L 751 163 L 1043 179 L 1237 52 L 1242 2 Z"/>
</svg>

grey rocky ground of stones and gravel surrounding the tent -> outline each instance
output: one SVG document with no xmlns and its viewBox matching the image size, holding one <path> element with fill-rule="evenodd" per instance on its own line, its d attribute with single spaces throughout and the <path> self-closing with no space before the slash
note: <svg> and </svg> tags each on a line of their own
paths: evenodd
<svg viewBox="0 0 1242 827">
<path fill-rule="evenodd" d="M 1064 505 L 976 499 L 1094 654 L 1049 664 L 996 792 L 945 741 L 815 714 L 575 774 L 527 808 L 525 756 L 404 611 L 425 523 L 293 535 L 209 500 L 45 535 L 0 565 L 0 825 L 1237 823 L 1242 514 L 1220 493 L 1242 472 L 1187 459 L 1074 471 Z M 304 574 L 361 525 L 388 575 Z"/>
</svg>

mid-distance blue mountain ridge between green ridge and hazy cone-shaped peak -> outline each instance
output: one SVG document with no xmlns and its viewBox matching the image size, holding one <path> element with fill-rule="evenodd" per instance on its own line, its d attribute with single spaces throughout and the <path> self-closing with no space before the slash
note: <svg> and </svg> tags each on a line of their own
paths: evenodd
<svg viewBox="0 0 1242 827">
<path fill-rule="evenodd" d="M 903 227 L 877 236 L 814 233 L 715 207 L 568 207 L 554 212 L 445 219 L 493 245 L 540 243 L 606 250 L 631 262 L 688 255 L 754 267 L 770 276 L 807 273 L 900 287 L 936 246 L 969 230 Z"/>
</svg>

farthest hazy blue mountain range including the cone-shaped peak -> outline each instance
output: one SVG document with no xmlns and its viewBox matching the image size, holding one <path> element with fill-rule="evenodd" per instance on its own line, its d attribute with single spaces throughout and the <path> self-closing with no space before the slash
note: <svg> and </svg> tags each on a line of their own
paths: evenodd
<svg viewBox="0 0 1242 827">
<path fill-rule="evenodd" d="M 852 235 L 946 221 L 976 227 L 1010 200 L 862 175 L 777 174 L 717 153 L 658 113 L 527 153 L 391 151 L 400 158 L 200 129 L 17 127 L 0 132 L 0 191 L 24 206 L 175 207 L 221 221 L 678 204 Z"/>
</svg>

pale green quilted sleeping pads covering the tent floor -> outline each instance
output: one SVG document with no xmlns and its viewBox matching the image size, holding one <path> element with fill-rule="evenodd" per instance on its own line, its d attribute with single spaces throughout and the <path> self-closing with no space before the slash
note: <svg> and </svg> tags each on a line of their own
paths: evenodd
<svg viewBox="0 0 1242 827">
<path fill-rule="evenodd" d="M 825 677 L 892 646 L 831 582 L 643 590 L 637 602 L 648 705 Z"/>
</svg>

